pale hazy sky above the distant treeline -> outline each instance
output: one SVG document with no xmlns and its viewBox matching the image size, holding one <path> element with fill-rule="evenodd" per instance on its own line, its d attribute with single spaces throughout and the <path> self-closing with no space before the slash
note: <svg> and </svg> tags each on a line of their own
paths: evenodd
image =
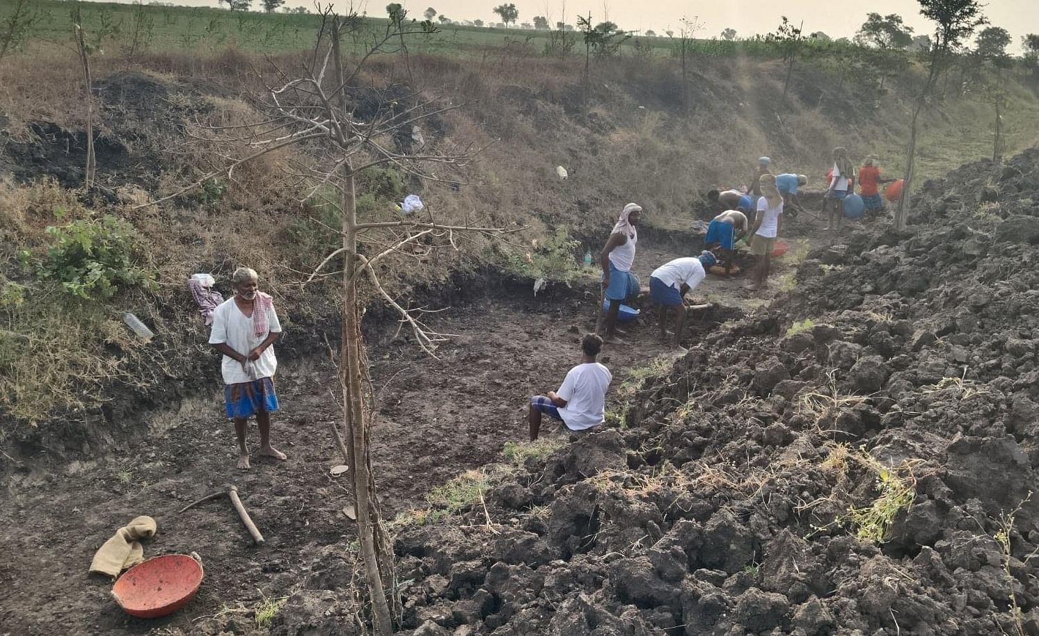
<svg viewBox="0 0 1039 636">
<path fill-rule="evenodd" d="M 369 0 L 357 2 L 357 6 L 371 15 L 381 16 L 390 0 Z M 491 8 L 505 0 L 405 0 L 404 6 L 412 16 L 419 17 L 427 6 L 432 6 L 452 20 L 476 20 L 497 22 Z M 722 29 L 731 27 L 740 36 L 767 33 L 775 29 L 780 16 L 787 16 L 795 24 L 804 21 L 804 32 L 823 31 L 837 38 L 854 35 L 865 20 L 868 11 L 882 15 L 899 13 L 915 33 L 930 34 L 930 22 L 920 15 L 920 5 L 913 0 L 872 0 L 871 2 L 843 5 L 833 0 L 785 0 L 762 2 L 760 0 L 712 0 L 709 2 L 683 2 L 681 0 L 508 0 L 515 2 L 520 9 L 520 22 L 530 22 L 534 16 L 548 16 L 552 23 L 564 19 L 574 23 L 578 15 L 587 16 L 591 11 L 593 22 L 609 19 L 627 30 L 654 29 L 658 33 L 671 28 L 677 31 L 683 18 L 696 17 L 703 28 L 697 37 L 713 37 Z M 213 6 L 215 0 L 174 0 L 177 4 Z M 345 8 L 347 0 L 337 0 Z M 288 6 L 304 5 L 313 7 L 312 1 L 287 0 Z M 260 0 L 254 0 L 259 7 Z M 565 10 L 565 16 L 564 16 Z M 1037 0 L 989 0 L 985 16 L 991 24 L 1010 31 L 1013 37 L 1011 52 L 1020 52 L 1021 35 L 1039 32 L 1039 1 Z"/>
</svg>

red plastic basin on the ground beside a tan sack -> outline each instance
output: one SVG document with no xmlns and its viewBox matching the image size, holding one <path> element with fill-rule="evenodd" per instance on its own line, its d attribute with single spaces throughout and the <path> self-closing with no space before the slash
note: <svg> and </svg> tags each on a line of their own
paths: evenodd
<svg viewBox="0 0 1039 636">
<path fill-rule="evenodd" d="M 202 577 L 198 561 L 186 554 L 166 554 L 127 570 L 112 586 L 112 596 L 133 616 L 165 616 L 194 598 Z"/>
</svg>

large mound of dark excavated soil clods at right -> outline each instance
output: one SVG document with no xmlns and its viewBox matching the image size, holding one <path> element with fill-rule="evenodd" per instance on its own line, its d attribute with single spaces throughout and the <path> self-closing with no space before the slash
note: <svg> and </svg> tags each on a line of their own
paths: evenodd
<svg viewBox="0 0 1039 636">
<path fill-rule="evenodd" d="M 913 208 L 403 532 L 409 633 L 1039 634 L 1039 150 Z"/>
</svg>

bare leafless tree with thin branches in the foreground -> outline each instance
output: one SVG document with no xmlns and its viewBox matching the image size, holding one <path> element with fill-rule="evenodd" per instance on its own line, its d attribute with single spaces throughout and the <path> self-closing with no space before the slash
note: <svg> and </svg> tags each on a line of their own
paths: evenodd
<svg viewBox="0 0 1039 636">
<path fill-rule="evenodd" d="M 324 198 L 342 213 L 341 227 L 324 225 L 329 232 L 341 237 L 342 247 L 318 264 L 308 280 L 326 277 L 322 272 L 331 264 L 342 266 L 339 369 L 343 428 L 334 424 L 332 432 L 351 469 L 372 628 L 375 634 L 384 636 L 393 632 L 399 607 L 393 550 L 382 523 L 371 465 L 374 392 L 361 331 L 364 307 L 371 298 L 380 297 L 397 311 L 402 327 L 409 328 L 418 344 L 435 355 L 437 343 L 447 335 L 427 326 L 425 310 L 411 308 L 388 292 L 379 277 L 380 262 L 411 257 L 411 250 L 417 248 L 457 249 L 460 241 L 472 240 L 474 234 L 497 239 L 506 231 L 522 228 L 452 225 L 438 222 L 431 213 L 421 218 L 416 215 L 395 220 L 357 218 L 357 177 L 365 170 L 393 167 L 424 182 L 448 181 L 442 170 L 467 165 L 478 150 L 447 141 L 412 141 L 418 137 L 412 136 L 415 127 L 462 105 L 427 98 L 414 87 L 397 86 L 394 91 L 380 92 L 365 85 L 366 64 L 373 56 L 399 51 L 395 49 L 397 43 L 435 27 L 428 22 L 407 21 L 398 10 L 391 11 L 384 31 L 373 35 L 367 31 L 370 26 L 356 13 L 339 16 L 329 6 L 321 16 L 321 30 L 308 63 L 291 73 L 275 70 L 273 85 L 267 86 L 263 94 L 255 95 L 252 105 L 259 113 L 258 121 L 199 127 L 198 136 L 213 145 L 222 165 L 179 193 L 218 175 L 235 182 L 238 169 L 244 164 L 294 147 L 297 151 L 287 160 L 290 167 L 285 170 L 283 184 L 298 189 L 300 202 Z M 341 43 L 350 35 L 371 39 L 359 56 L 348 59 Z M 433 166 L 441 166 L 435 174 L 430 169 Z M 165 198 L 172 196 L 177 194 Z"/>
</svg>

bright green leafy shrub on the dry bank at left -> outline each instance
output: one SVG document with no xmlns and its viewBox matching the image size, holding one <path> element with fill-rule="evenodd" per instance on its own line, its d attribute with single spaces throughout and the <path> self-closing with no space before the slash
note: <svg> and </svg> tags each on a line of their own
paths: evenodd
<svg viewBox="0 0 1039 636">
<path fill-rule="evenodd" d="M 155 286 L 155 272 L 132 225 L 111 215 L 47 228 L 51 247 L 39 274 L 80 298 L 111 298 L 119 289 Z"/>
</svg>

